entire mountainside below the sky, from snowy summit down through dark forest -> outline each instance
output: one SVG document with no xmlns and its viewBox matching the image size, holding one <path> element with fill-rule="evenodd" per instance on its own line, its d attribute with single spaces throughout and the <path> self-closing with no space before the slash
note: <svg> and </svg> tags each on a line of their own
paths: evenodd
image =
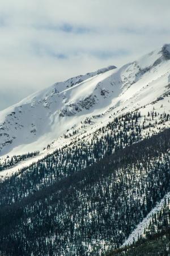
<svg viewBox="0 0 170 256">
<path fill-rule="evenodd" d="M 0 255 L 170 255 L 170 44 L 0 112 Z"/>
</svg>

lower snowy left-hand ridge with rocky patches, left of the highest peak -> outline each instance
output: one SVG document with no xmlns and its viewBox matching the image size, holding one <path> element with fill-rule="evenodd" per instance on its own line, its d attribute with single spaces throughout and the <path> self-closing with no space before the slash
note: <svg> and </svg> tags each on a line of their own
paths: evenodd
<svg viewBox="0 0 170 256">
<path fill-rule="evenodd" d="M 115 68 L 109 66 L 57 82 L 0 112 L 0 155 L 20 145 L 21 152 L 31 151 L 35 147 L 42 150 L 42 147 L 80 122 L 79 116 L 91 113 L 92 106 L 99 101 L 92 94 L 96 85 L 111 75 Z M 104 95 L 102 97 L 105 98 Z M 73 116 L 77 114 L 79 116 L 73 121 Z"/>
</svg>

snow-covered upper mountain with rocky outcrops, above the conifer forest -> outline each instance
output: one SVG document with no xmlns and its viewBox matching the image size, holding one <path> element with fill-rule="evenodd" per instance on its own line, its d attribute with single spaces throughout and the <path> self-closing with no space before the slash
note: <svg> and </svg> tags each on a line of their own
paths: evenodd
<svg viewBox="0 0 170 256">
<path fill-rule="evenodd" d="M 40 150 L 93 118 L 94 130 L 109 117 L 154 104 L 169 111 L 170 44 L 121 68 L 57 82 L 0 112 L 0 155 Z M 160 108 L 162 106 L 162 108 Z"/>
</svg>

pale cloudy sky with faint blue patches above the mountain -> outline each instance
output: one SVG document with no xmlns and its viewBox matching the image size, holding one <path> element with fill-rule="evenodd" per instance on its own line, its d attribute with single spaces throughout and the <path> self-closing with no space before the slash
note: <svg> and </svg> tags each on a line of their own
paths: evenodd
<svg viewBox="0 0 170 256">
<path fill-rule="evenodd" d="M 170 43 L 169 0 L 1 0 L 0 110 Z"/>
</svg>

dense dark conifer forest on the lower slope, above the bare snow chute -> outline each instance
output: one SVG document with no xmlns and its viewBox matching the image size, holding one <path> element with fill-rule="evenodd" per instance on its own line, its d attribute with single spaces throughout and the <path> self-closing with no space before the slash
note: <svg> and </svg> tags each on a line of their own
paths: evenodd
<svg viewBox="0 0 170 256">
<path fill-rule="evenodd" d="M 142 125 L 138 111 L 122 115 L 91 141 L 1 180 L 1 255 L 101 255 L 121 247 L 169 192 L 170 130 L 142 135 L 156 115 Z M 159 122 L 168 119 L 164 113 Z"/>
</svg>

